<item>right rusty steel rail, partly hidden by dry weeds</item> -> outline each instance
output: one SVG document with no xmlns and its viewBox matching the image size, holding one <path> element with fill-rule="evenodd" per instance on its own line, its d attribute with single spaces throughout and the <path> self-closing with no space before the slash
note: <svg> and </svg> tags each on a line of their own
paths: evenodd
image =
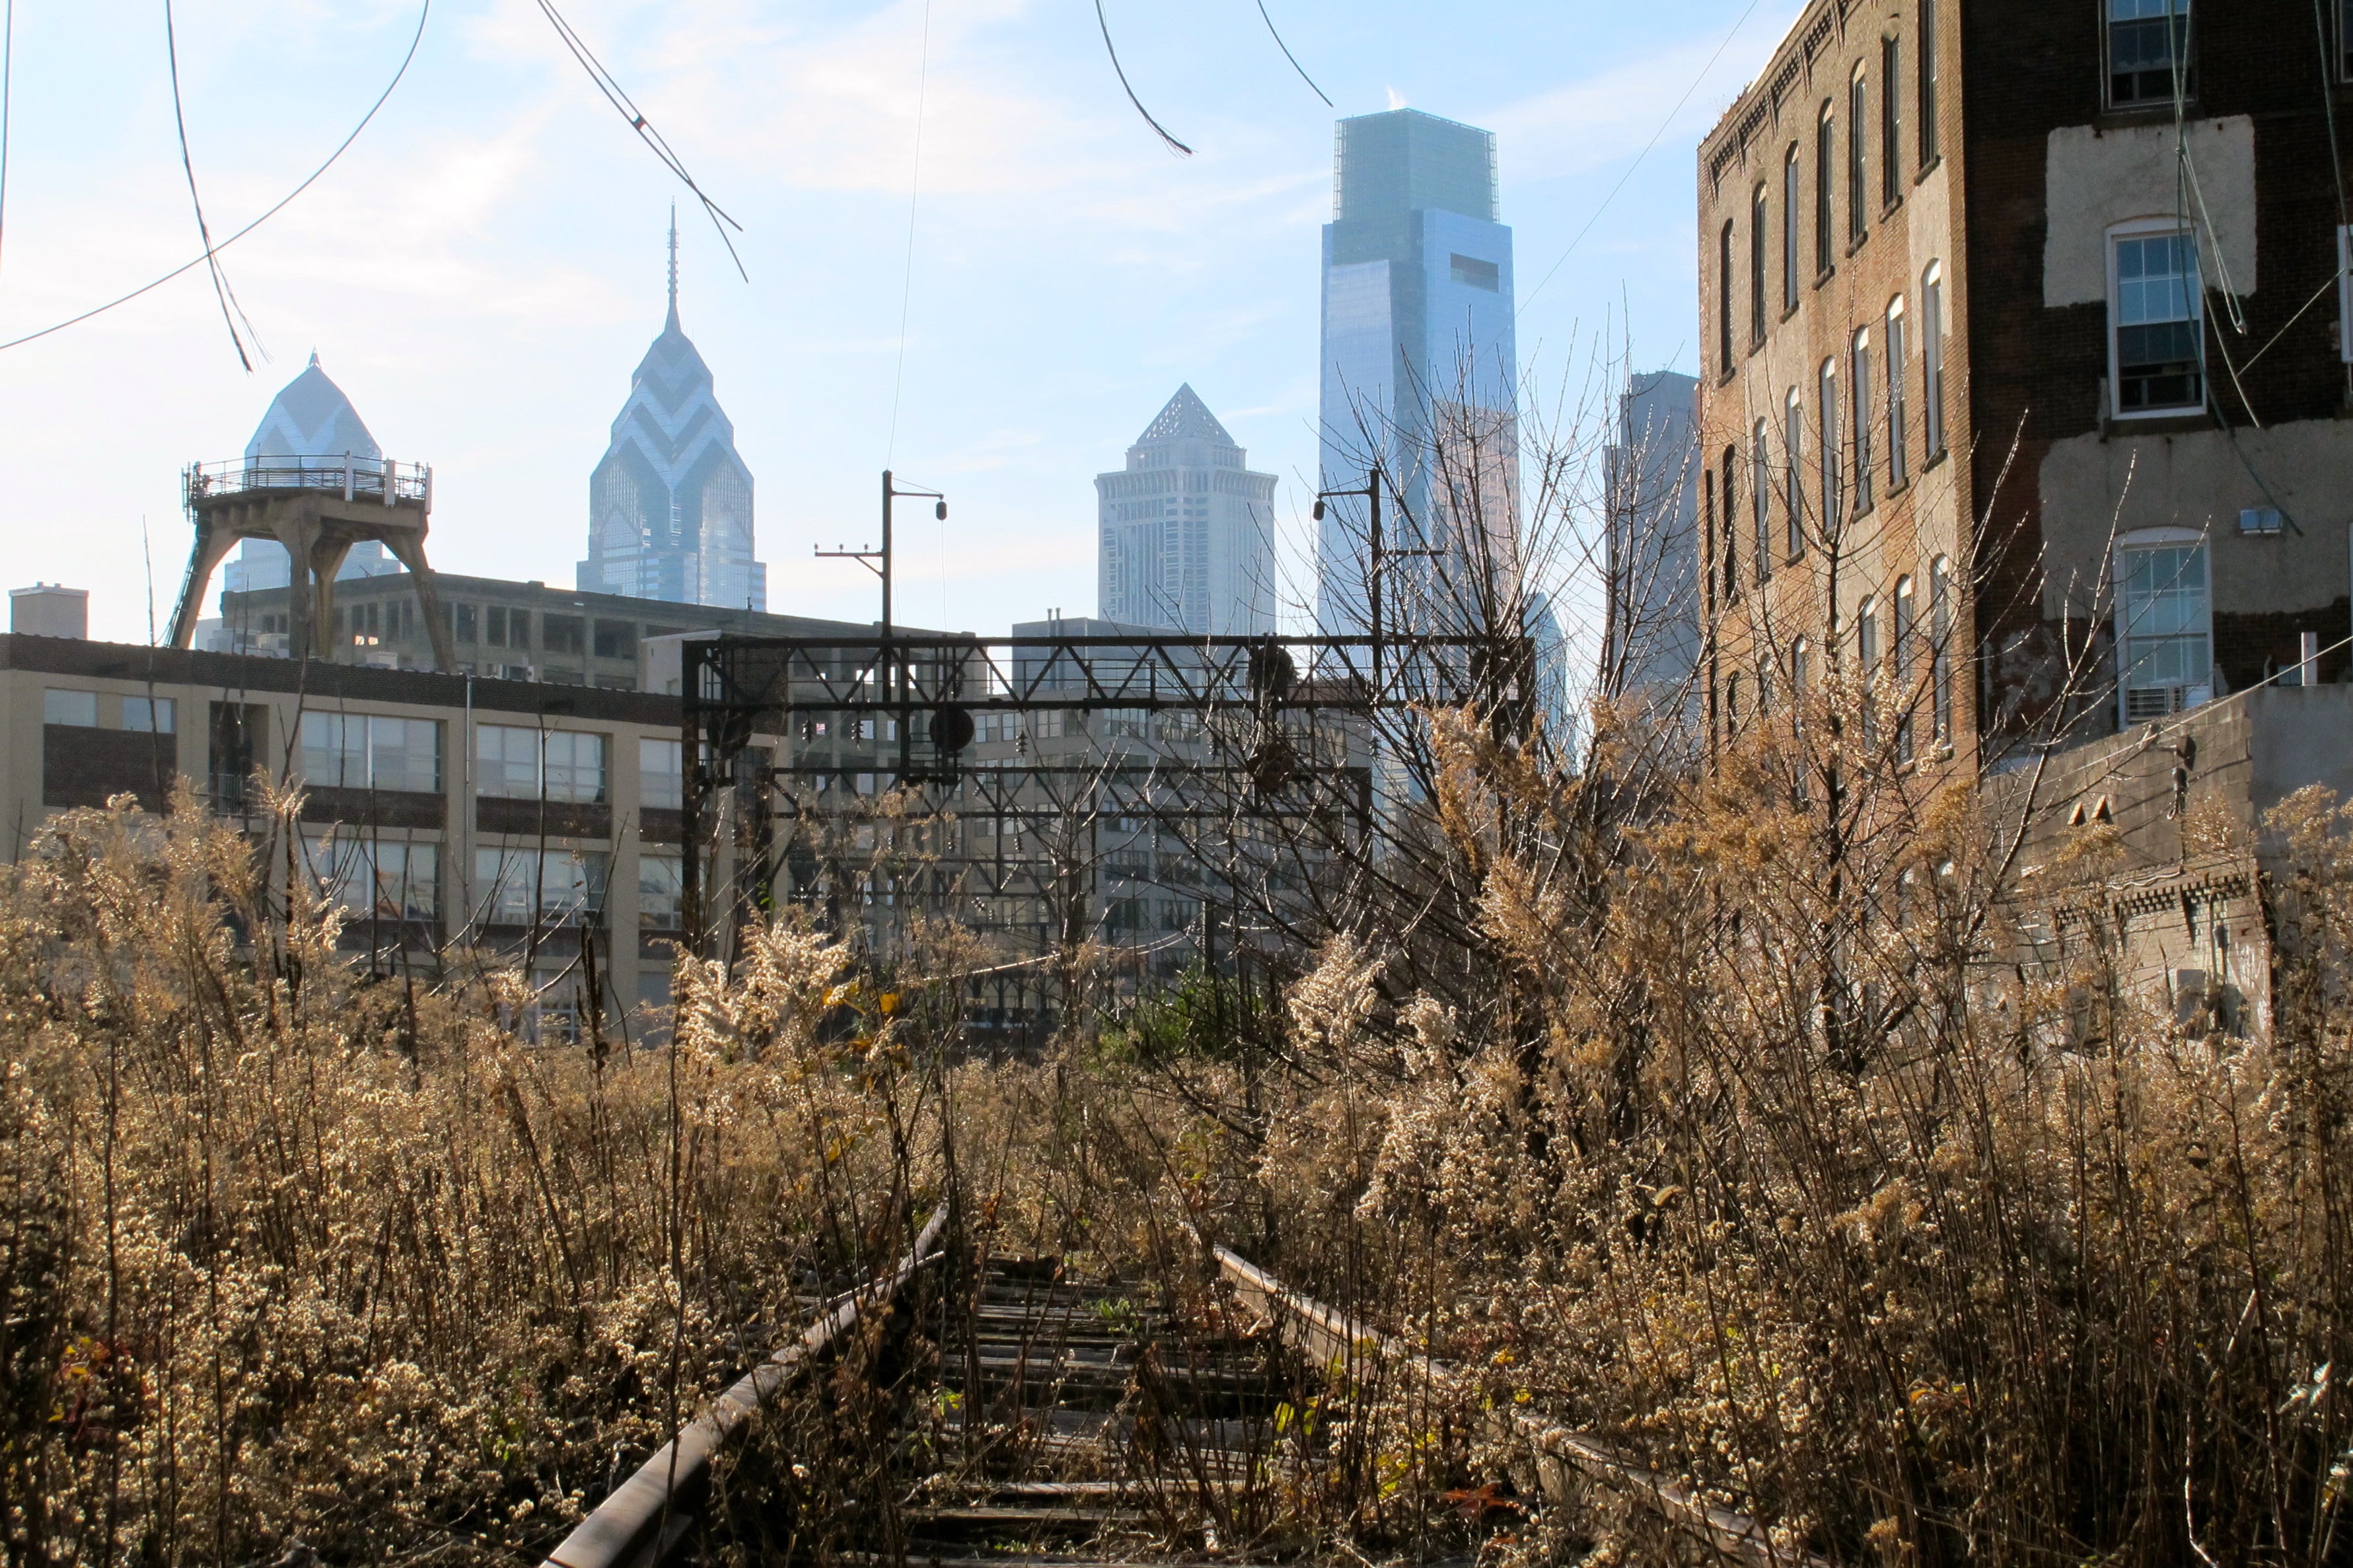
<svg viewBox="0 0 2353 1568">
<path fill-rule="evenodd" d="M 1289 1333 L 1294 1344 L 1313 1354 L 1320 1363 L 1353 1370 L 1362 1361 L 1379 1361 L 1398 1354 L 1433 1377 L 1442 1370 L 1435 1361 L 1398 1351 L 1388 1335 L 1369 1328 L 1360 1318 L 1327 1307 L 1285 1285 L 1280 1278 L 1257 1267 L 1231 1248 L 1212 1248 L 1219 1271 L 1235 1295 L 1259 1311 L 1278 1333 Z M 1668 1526 L 1699 1537 L 1718 1554 L 1751 1563 L 1753 1568 L 1833 1568 L 1833 1563 L 1805 1547 L 1788 1547 L 1772 1537 L 1772 1530 L 1748 1514 L 1720 1509 L 1694 1495 L 1689 1486 L 1635 1464 L 1609 1443 L 1541 1420 L 1525 1410 L 1494 1410 L 1489 1420 L 1506 1424 L 1508 1436 L 1525 1443 L 1537 1464 L 1537 1481 L 1544 1495 L 1555 1502 L 1572 1502 L 1574 1476 L 1600 1486 L 1628 1502 L 1659 1514 Z"/>
</svg>

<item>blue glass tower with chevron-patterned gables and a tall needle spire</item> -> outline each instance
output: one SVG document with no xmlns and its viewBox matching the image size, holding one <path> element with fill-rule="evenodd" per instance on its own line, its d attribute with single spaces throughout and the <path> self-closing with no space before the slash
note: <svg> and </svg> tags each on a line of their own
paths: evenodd
<svg viewBox="0 0 2353 1568">
<path fill-rule="evenodd" d="M 588 476 L 588 593 L 767 610 L 753 558 L 751 469 L 711 391 L 711 367 L 678 325 L 678 210 L 671 210 L 671 315 L 638 360 Z"/>
</svg>

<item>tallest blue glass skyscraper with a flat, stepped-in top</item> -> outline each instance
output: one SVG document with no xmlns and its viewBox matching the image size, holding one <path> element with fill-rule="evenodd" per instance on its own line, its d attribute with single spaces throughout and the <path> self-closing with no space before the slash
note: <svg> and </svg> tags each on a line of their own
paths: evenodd
<svg viewBox="0 0 2353 1568">
<path fill-rule="evenodd" d="M 1417 565 L 1417 579 L 1464 586 L 1492 563 L 1515 591 L 1518 346 L 1494 134 L 1414 108 L 1341 120 L 1332 205 L 1322 487 L 1365 485 L 1379 461 L 1386 544 L 1447 549 L 1447 570 Z M 1325 631 L 1367 626 L 1369 565 L 1365 504 L 1332 501 L 1318 537 Z M 1384 605 L 1395 591 L 1391 577 Z"/>
</svg>

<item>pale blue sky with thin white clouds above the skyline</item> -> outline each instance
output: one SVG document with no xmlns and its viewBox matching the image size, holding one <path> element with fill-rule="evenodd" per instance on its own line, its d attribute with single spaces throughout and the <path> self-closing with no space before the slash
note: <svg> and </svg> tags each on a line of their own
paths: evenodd
<svg viewBox="0 0 2353 1568">
<path fill-rule="evenodd" d="M 0 348 L 9 586 L 89 589 L 99 638 L 148 640 L 151 603 L 167 626 L 181 466 L 240 454 L 313 351 L 391 457 L 433 464 L 435 567 L 569 586 L 685 198 L 680 313 L 755 478 L 772 610 L 875 617 L 873 579 L 812 546 L 873 539 L 892 466 L 951 509 L 899 530 L 901 622 L 1092 614 L 1094 476 L 1184 381 L 1280 476 L 1311 596 L 1332 122 L 1412 106 L 1497 132 L 1537 400 L 1595 363 L 1692 372 L 1694 146 L 1798 5 L 1266 0 L 1327 108 L 1257 0 L 1104 0 L 1191 158 L 1127 104 L 1087 0 L 560 9 L 741 221 L 748 280 L 536 0 L 431 0 L 351 151 L 221 252 L 249 372 L 202 266 Z M 174 0 L 216 240 L 351 134 L 419 14 Z M 0 341 L 200 254 L 162 5 L 24 0 L 9 47 Z"/>
</svg>

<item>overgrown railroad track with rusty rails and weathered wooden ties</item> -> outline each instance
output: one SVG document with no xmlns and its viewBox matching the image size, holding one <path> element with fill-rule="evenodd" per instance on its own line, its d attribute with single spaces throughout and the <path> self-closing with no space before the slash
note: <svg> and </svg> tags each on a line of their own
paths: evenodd
<svg viewBox="0 0 2353 1568">
<path fill-rule="evenodd" d="M 1209 1262 L 1242 1311 L 1188 1321 L 1144 1283 L 1080 1278 L 1052 1257 L 955 1269 L 941 1241 L 944 1212 L 656 1450 L 546 1568 L 1247 1568 L 1301 1460 L 1329 1457 L 1294 1410 L 1344 1401 L 1374 1363 L 1438 1375 L 1224 1248 Z M 807 1495 L 793 1443 L 809 1441 L 814 1460 L 826 1429 L 795 1431 L 791 1417 L 840 1415 L 845 1387 L 864 1413 L 833 1431 L 854 1429 L 880 1457 L 852 1488 Z M 772 1417 L 784 1424 L 755 1448 L 786 1450 L 760 1455 L 784 1469 L 713 1486 L 722 1450 Z M 1522 1450 L 1513 1469 L 1532 1502 L 1638 1507 L 1664 1526 L 1673 1561 L 1831 1568 L 1586 1434 L 1522 1413 L 1497 1420 L 1494 1436 Z"/>
</svg>

